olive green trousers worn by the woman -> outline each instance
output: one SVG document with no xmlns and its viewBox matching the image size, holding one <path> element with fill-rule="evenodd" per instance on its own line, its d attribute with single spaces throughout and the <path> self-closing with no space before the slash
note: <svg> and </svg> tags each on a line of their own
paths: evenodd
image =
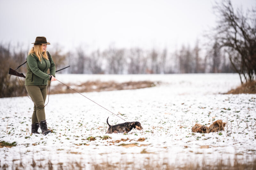
<svg viewBox="0 0 256 170">
<path fill-rule="evenodd" d="M 47 85 L 26 85 L 26 89 L 34 102 L 32 124 L 45 120 L 44 103 L 47 96 Z"/>
</svg>

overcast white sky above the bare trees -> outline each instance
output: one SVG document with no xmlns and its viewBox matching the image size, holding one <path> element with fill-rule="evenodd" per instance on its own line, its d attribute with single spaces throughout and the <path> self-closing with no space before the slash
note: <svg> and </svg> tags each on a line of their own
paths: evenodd
<svg viewBox="0 0 256 170">
<path fill-rule="evenodd" d="M 36 36 L 54 47 L 106 49 L 194 45 L 215 26 L 214 0 L 0 0 L 0 43 L 31 48 Z M 220 0 L 218 0 L 220 2 Z M 232 0 L 244 9 L 255 0 Z M 50 45 L 51 46 L 51 45 Z M 51 48 L 51 47 L 50 47 Z M 49 50 L 49 47 L 48 47 Z"/>
</svg>

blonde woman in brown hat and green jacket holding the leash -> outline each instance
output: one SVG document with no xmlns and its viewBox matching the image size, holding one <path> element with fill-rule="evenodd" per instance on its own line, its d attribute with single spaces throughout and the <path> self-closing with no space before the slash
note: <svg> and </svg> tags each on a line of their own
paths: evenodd
<svg viewBox="0 0 256 170">
<path fill-rule="evenodd" d="M 27 75 L 25 86 L 27 92 L 34 102 L 34 112 L 32 115 L 31 133 L 37 133 L 39 126 L 42 134 L 47 135 L 51 130 L 47 129 L 44 112 L 44 102 L 47 95 L 47 81 L 55 81 L 55 64 L 51 55 L 46 51 L 47 45 L 45 37 L 36 37 L 34 47 L 28 52 Z M 47 74 L 50 68 L 51 76 Z"/>
</svg>

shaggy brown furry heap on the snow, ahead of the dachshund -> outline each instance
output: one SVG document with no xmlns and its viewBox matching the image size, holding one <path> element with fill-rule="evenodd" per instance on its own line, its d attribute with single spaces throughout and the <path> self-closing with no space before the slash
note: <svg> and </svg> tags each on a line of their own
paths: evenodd
<svg viewBox="0 0 256 170">
<path fill-rule="evenodd" d="M 195 126 L 192 127 L 192 132 L 198 132 L 198 133 L 217 132 L 220 130 L 224 130 L 225 125 L 226 125 L 226 123 L 222 122 L 222 120 L 217 120 L 217 121 L 213 122 L 209 126 L 209 128 L 204 125 L 195 124 Z"/>
</svg>

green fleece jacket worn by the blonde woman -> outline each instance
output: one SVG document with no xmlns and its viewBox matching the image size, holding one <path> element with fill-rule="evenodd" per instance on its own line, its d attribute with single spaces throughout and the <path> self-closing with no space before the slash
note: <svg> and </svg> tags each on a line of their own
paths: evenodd
<svg viewBox="0 0 256 170">
<path fill-rule="evenodd" d="M 41 62 L 35 54 L 28 55 L 25 85 L 47 85 L 47 80 L 50 80 L 50 76 L 47 74 L 49 68 L 51 75 L 55 77 L 55 64 L 49 52 L 48 54 L 49 59 L 46 60 L 42 57 Z"/>
</svg>

